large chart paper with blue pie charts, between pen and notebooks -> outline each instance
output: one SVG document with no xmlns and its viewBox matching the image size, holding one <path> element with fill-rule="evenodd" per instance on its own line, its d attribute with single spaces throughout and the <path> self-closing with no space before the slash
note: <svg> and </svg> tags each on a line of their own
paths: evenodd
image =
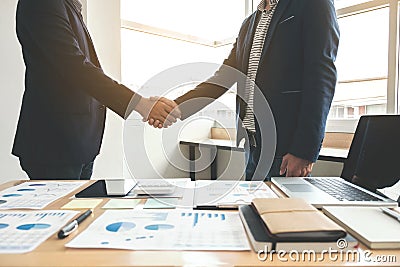
<svg viewBox="0 0 400 267">
<path fill-rule="evenodd" d="M 129 250 L 250 250 L 237 212 L 107 210 L 66 244 Z"/>
</svg>

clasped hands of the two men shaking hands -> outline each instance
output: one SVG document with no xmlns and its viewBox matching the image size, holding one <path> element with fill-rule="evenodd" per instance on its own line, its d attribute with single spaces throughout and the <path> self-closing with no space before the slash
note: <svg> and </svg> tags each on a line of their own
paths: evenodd
<svg viewBox="0 0 400 267">
<path fill-rule="evenodd" d="M 142 97 L 135 110 L 142 115 L 144 122 L 154 128 L 168 128 L 181 118 L 181 111 L 175 101 L 165 97 Z"/>
</svg>

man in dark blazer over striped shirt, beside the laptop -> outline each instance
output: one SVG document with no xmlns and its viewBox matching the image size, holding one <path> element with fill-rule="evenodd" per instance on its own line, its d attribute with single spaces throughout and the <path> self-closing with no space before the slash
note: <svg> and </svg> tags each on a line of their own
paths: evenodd
<svg viewBox="0 0 400 267">
<path fill-rule="evenodd" d="M 307 176 L 318 158 L 334 95 L 338 43 L 333 0 L 263 0 L 243 22 L 224 61 L 225 69 L 222 66 L 208 81 L 176 99 L 182 118 L 238 82 L 238 95 L 247 98 L 247 104 L 237 101 L 237 115 L 243 121 L 238 125 L 238 140 L 246 133 L 249 136 L 246 178 L 250 180 L 262 151 L 261 143 L 268 138 L 261 137 L 260 127 L 272 126 L 259 125 L 252 114 L 253 108 L 257 109 L 255 86 L 251 86 L 255 83 L 272 110 L 277 145 L 270 172 L 254 178 Z M 247 81 L 226 77 L 226 66 L 243 73 Z M 221 81 L 224 87 L 217 85 Z M 204 100 L 207 98 L 211 100 Z M 194 99 L 199 99 L 199 104 Z M 154 120 L 149 123 L 158 125 Z"/>
</svg>

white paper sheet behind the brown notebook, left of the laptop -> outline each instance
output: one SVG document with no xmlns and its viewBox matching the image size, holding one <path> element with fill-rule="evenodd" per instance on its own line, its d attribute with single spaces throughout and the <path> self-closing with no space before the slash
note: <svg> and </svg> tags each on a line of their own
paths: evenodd
<svg viewBox="0 0 400 267">
<path fill-rule="evenodd" d="M 195 206 L 237 206 L 254 198 L 277 198 L 260 181 L 196 181 Z"/>
</svg>

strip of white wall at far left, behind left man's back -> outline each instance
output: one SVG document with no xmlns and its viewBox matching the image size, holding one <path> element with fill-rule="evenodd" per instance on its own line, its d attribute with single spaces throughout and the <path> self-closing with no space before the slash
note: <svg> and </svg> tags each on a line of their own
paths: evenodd
<svg viewBox="0 0 400 267">
<path fill-rule="evenodd" d="M 24 88 L 24 64 L 15 33 L 17 0 L 0 1 L 0 183 L 25 179 L 11 155 Z"/>
</svg>

